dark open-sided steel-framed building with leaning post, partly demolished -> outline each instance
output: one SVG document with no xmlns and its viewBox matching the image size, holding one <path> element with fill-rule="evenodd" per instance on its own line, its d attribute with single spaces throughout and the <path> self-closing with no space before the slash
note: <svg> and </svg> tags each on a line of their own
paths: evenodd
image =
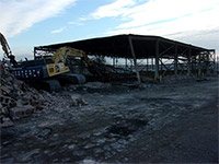
<svg viewBox="0 0 219 164">
<path fill-rule="evenodd" d="M 214 72 L 216 66 L 215 49 L 197 47 L 160 36 L 132 34 L 38 46 L 34 48 L 34 55 L 51 54 L 65 46 L 84 50 L 91 56 L 131 59 L 139 83 L 141 82 L 138 65 L 140 59 L 147 60 L 147 67 L 148 59 L 154 63 L 155 79 L 159 79 L 161 74 L 164 75 L 169 70 L 173 70 L 175 75 L 178 74 L 178 71 L 184 71 L 188 75 L 192 73 L 209 74 Z M 174 67 L 170 68 L 169 65 L 165 65 L 166 60 L 170 60 Z"/>
</svg>

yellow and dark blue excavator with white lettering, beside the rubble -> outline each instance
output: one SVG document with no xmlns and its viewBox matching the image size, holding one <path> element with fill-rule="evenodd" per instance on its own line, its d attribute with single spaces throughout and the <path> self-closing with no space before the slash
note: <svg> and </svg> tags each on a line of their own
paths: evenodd
<svg viewBox="0 0 219 164">
<path fill-rule="evenodd" d="M 30 82 L 35 87 L 46 86 L 45 90 L 58 91 L 62 81 L 78 84 L 84 83 L 85 77 L 83 74 L 70 72 L 67 65 L 68 57 L 81 58 L 87 63 L 89 72 L 94 77 L 102 77 L 83 50 L 71 47 L 61 47 L 51 56 L 37 56 L 34 60 L 23 61 L 19 65 L 11 52 L 5 37 L 2 34 L 0 34 L 0 37 L 5 57 L 12 63 L 11 72 L 16 79 Z"/>
</svg>

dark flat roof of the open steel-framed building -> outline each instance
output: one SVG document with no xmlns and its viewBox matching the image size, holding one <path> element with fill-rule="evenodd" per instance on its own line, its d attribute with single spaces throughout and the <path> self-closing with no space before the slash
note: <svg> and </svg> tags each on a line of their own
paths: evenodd
<svg viewBox="0 0 219 164">
<path fill-rule="evenodd" d="M 88 55 L 132 58 L 129 39 L 132 43 L 132 47 L 137 59 L 154 57 L 158 50 L 158 40 L 160 43 L 159 51 L 163 52 L 163 55 L 166 55 L 169 57 L 174 56 L 174 47 L 177 47 L 177 54 L 180 56 L 184 56 L 184 52 L 188 48 L 191 50 L 191 56 L 197 56 L 198 54 L 204 51 L 212 51 L 212 49 L 206 49 L 203 47 L 197 47 L 194 45 L 168 39 L 160 36 L 132 34 L 114 35 L 107 37 L 83 39 L 78 42 L 38 46 L 35 47 L 35 50 L 55 51 L 60 47 L 67 46 L 84 50 Z"/>
</svg>

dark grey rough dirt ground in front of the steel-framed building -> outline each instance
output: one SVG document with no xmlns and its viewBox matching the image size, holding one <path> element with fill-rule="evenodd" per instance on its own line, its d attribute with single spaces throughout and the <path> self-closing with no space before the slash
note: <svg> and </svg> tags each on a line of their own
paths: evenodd
<svg viewBox="0 0 219 164">
<path fill-rule="evenodd" d="M 218 90 L 216 77 L 70 85 L 1 129 L 1 163 L 218 163 Z M 88 105 L 72 106 L 70 96 Z"/>
</svg>

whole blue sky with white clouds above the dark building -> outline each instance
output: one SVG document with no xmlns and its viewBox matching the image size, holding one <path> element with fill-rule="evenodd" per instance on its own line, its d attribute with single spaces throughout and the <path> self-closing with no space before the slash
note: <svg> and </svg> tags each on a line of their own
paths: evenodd
<svg viewBox="0 0 219 164">
<path fill-rule="evenodd" d="M 33 58 L 35 46 L 117 34 L 157 35 L 219 54 L 219 0 L 0 0 L 0 32 L 18 60 Z"/>
</svg>

